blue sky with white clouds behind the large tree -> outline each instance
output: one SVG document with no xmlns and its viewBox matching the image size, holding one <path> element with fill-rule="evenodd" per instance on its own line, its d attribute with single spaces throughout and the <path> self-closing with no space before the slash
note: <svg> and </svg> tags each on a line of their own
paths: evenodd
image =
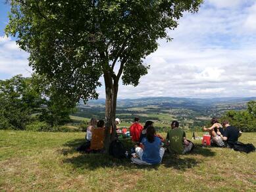
<svg viewBox="0 0 256 192">
<path fill-rule="evenodd" d="M 0 2 L 0 80 L 30 76 L 28 53 L 6 37 L 10 7 Z M 151 68 L 137 87 L 122 85 L 118 98 L 256 96 L 256 1 L 205 0 L 199 12 L 184 12 L 173 38 L 145 59 Z M 101 78 L 103 82 L 103 78 Z M 104 84 L 98 89 L 105 97 Z"/>
</svg>

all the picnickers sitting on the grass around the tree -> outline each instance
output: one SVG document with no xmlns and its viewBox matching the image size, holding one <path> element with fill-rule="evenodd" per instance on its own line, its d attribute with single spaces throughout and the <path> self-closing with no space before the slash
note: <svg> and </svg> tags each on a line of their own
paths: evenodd
<svg viewBox="0 0 256 192">
<path fill-rule="evenodd" d="M 154 122 L 147 120 L 145 126 L 140 124 L 140 119 L 135 118 L 134 123 L 130 126 L 131 139 L 134 142 L 135 150 L 132 158 L 138 158 L 145 164 L 159 164 L 166 152 L 184 154 L 192 151 L 193 143 L 186 138 L 186 133 L 179 127 L 179 122 L 174 120 L 170 124 L 170 130 L 163 139 L 161 135 L 156 133 L 153 126 Z M 117 130 L 120 120 L 116 118 Z M 218 147 L 231 147 L 238 137 L 242 134 L 236 127 L 230 126 L 228 121 L 220 124 L 217 118 L 211 120 L 210 128 L 203 127 L 204 132 L 209 132 L 211 142 Z M 223 127 L 225 129 L 223 129 Z M 122 132 L 120 132 L 122 133 Z M 97 121 L 91 118 L 90 126 L 87 128 L 86 143 L 81 146 L 84 150 L 102 150 L 104 147 L 105 124 L 103 120 Z"/>
</svg>

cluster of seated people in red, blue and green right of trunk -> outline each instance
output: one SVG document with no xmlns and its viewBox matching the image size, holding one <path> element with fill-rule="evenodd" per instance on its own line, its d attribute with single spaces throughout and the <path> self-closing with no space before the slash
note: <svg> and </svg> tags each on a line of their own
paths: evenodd
<svg viewBox="0 0 256 192">
<path fill-rule="evenodd" d="M 132 141 L 138 143 L 132 156 L 133 158 L 139 158 L 140 163 L 159 164 L 165 151 L 184 154 L 192 150 L 193 143 L 186 139 L 186 133 L 179 128 L 178 121 L 172 121 L 170 124 L 171 129 L 168 130 L 166 139 L 156 133 L 153 123 L 148 120 L 145 122 L 145 126 L 142 127 L 139 123 L 139 118 L 135 118 L 134 123 L 130 126 Z"/>
</svg>

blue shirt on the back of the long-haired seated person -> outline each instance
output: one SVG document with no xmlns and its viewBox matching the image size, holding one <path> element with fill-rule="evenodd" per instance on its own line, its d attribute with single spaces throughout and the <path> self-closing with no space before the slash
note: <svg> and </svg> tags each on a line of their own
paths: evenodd
<svg viewBox="0 0 256 192">
<path fill-rule="evenodd" d="M 150 164 L 159 164 L 162 160 L 160 156 L 161 139 L 155 137 L 154 141 L 150 143 L 147 137 L 141 141 L 144 146 L 142 160 Z"/>
</svg>

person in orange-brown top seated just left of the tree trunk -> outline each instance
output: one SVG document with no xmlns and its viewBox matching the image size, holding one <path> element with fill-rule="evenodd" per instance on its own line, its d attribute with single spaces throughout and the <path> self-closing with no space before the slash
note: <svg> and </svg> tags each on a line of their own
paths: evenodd
<svg viewBox="0 0 256 192">
<path fill-rule="evenodd" d="M 101 150 L 104 147 L 105 127 L 104 121 L 97 122 L 97 128 L 91 129 L 91 150 Z"/>
</svg>

